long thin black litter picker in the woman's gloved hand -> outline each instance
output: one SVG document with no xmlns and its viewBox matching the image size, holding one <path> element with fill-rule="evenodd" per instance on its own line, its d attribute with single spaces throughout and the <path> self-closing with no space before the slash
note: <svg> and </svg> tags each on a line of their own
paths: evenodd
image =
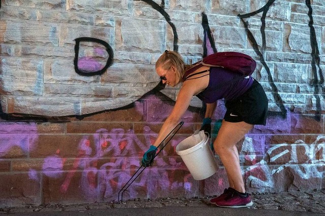
<svg viewBox="0 0 325 216">
<path fill-rule="evenodd" d="M 168 144 L 168 142 L 174 137 L 174 135 L 177 133 L 177 131 L 182 127 L 182 125 L 184 124 L 183 121 L 181 121 L 178 125 L 176 125 L 176 127 L 165 137 L 165 139 L 163 141 L 160 142 L 159 146 L 156 148 L 158 149 L 160 146 L 162 146 L 159 151 L 157 152 L 157 154 L 152 158 L 151 163 L 153 162 L 153 160 L 155 159 L 155 157 L 157 157 L 157 155 L 163 151 L 163 149 L 166 147 L 166 145 Z M 123 186 L 123 188 L 118 192 L 118 202 L 120 201 L 120 193 L 121 193 L 121 201 L 123 200 L 123 193 L 128 189 L 128 187 L 131 186 L 131 184 L 137 179 L 137 177 L 143 172 L 143 170 L 145 170 L 145 168 L 147 168 L 146 166 L 143 166 L 141 164 L 141 166 L 139 167 L 139 169 L 132 175 L 132 177 L 129 179 L 129 181 L 127 181 L 127 183 Z"/>
</svg>

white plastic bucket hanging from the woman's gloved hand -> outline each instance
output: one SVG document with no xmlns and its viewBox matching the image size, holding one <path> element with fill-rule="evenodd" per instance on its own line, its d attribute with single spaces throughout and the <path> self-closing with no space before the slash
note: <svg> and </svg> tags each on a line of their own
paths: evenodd
<svg viewBox="0 0 325 216">
<path fill-rule="evenodd" d="M 215 157 L 207 145 L 208 140 L 209 137 L 202 130 L 187 137 L 176 147 L 176 153 L 196 180 L 208 178 L 218 170 Z"/>
</svg>

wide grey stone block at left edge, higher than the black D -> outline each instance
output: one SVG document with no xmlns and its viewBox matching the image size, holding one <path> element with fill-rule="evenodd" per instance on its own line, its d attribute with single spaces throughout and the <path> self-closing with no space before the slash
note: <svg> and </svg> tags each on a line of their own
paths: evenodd
<svg viewBox="0 0 325 216">
<path fill-rule="evenodd" d="M 58 46 L 58 24 L 6 20 L 0 25 L 2 25 L 0 28 L 5 28 L 1 40 L 4 43 Z"/>
</svg>

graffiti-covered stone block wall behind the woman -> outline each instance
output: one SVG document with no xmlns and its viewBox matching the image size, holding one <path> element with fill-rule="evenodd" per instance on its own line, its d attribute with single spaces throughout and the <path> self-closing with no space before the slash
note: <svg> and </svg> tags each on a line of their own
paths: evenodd
<svg viewBox="0 0 325 216">
<path fill-rule="evenodd" d="M 213 48 L 257 61 L 269 117 L 237 145 L 249 193 L 323 189 L 324 24 L 322 0 L 2 0 L 0 206 L 117 201 L 177 97 L 154 71 L 166 49 L 187 63 Z M 195 181 L 175 153 L 203 110 L 193 98 L 123 199 L 228 187 L 218 156 L 218 172 Z M 213 120 L 224 112 L 220 100 Z"/>
</svg>

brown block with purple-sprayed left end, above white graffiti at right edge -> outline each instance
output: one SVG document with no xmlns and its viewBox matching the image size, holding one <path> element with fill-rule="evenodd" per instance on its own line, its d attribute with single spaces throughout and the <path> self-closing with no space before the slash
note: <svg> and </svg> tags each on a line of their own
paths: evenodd
<svg viewBox="0 0 325 216">
<path fill-rule="evenodd" d="M 323 119 L 317 121 L 312 115 L 291 115 L 291 133 L 323 133 Z"/>
</svg>

